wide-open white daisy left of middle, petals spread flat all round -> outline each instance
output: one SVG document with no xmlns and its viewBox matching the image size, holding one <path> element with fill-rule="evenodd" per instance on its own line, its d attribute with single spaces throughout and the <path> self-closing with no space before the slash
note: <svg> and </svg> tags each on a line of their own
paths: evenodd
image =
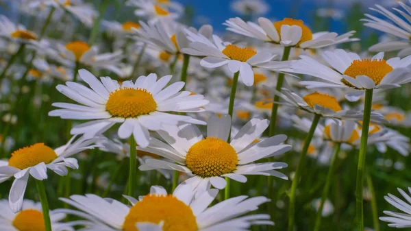
<svg viewBox="0 0 411 231">
<path fill-rule="evenodd" d="M 175 82 L 164 88 L 171 75 L 157 80 L 157 75 L 151 73 L 138 77 L 136 82 L 124 81 L 121 85 L 110 77 L 100 77 L 100 82 L 84 69 L 79 70 L 79 76 L 91 89 L 75 82 L 66 82 L 65 86 L 56 88 L 83 105 L 55 103 L 53 106 L 61 109 L 49 112 L 51 117 L 92 120 L 73 127 L 72 134 L 84 134 L 90 138 L 105 132 L 115 123 L 121 123 L 118 130 L 120 138 L 133 135 L 139 146 L 147 147 L 149 130 L 157 131 L 162 125 L 176 125 L 179 121 L 205 124 L 188 116 L 166 113 L 203 112 L 200 107 L 208 104 L 203 95 L 179 92 L 184 82 Z"/>
</svg>

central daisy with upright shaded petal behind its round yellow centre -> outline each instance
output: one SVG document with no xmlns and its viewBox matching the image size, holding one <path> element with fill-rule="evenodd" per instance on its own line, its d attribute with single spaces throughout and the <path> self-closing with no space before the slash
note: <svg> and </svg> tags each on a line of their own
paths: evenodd
<svg viewBox="0 0 411 231">
<path fill-rule="evenodd" d="M 151 138 L 148 147 L 139 149 L 169 158 L 175 164 L 164 160 L 147 160 L 139 169 L 171 169 L 189 173 L 192 178 L 185 182 L 192 184 L 199 193 L 210 184 L 217 189 L 224 189 L 224 177 L 238 182 L 246 182 L 245 175 L 273 175 L 288 179 L 283 173 L 274 170 L 287 167 L 284 162 L 252 163 L 289 151 L 291 146 L 282 144 L 287 136 L 277 135 L 253 143 L 269 126 L 268 120 L 253 118 L 227 143 L 231 124 L 229 115 L 222 115 L 221 118 L 213 115 L 208 121 L 207 138 L 203 138 L 194 125 L 164 127 L 158 134 L 166 143 Z"/>
</svg>

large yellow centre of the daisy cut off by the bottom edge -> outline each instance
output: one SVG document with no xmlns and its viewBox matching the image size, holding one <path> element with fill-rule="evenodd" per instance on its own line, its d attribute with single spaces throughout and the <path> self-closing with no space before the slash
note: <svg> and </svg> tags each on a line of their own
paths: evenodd
<svg viewBox="0 0 411 231">
<path fill-rule="evenodd" d="M 197 221 L 190 206 L 173 195 L 146 195 L 134 204 L 123 223 L 124 231 L 138 231 L 136 222 L 160 223 L 163 231 L 196 231 Z"/>
</svg>

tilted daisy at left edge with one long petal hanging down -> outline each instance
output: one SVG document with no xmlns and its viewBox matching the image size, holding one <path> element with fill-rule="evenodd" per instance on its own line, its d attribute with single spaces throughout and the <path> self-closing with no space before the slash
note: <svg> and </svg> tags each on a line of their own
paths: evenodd
<svg viewBox="0 0 411 231">
<path fill-rule="evenodd" d="M 51 149 L 44 143 L 23 147 L 12 153 L 7 165 L 0 166 L 0 182 L 15 178 L 9 193 L 9 204 L 13 212 L 21 210 L 29 175 L 36 180 L 45 180 L 48 177 L 47 169 L 58 175 L 67 175 L 67 167 L 79 168 L 77 160 L 69 156 L 92 149 L 95 145 L 91 144 L 97 141 L 97 138 L 87 140 L 80 137 L 77 141 L 74 139 L 75 136 L 66 145 L 56 149 Z"/>
</svg>

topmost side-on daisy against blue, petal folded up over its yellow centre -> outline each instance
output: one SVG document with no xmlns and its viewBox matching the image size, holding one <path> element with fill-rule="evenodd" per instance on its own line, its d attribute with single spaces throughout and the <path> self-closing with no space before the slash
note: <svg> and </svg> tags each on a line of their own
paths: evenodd
<svg viewBox="0 0 411 231">
<path fill-rule="evenodd" d="M 275 23 L 266 18 L 259 18 L 258 25 L 245 22 L 240 18 L 231 18 L 223 23 L 227 30 L 264 42 L 272 42 L 284 47 L 299 47 L 302 49 L 319 49 L 343 42 L 352 42 L 358 38 L 350 38 L 355 31 L 338 36 L 334 32 L 312 33 L 302 20 L 285 18 Z"/>
</svg>

